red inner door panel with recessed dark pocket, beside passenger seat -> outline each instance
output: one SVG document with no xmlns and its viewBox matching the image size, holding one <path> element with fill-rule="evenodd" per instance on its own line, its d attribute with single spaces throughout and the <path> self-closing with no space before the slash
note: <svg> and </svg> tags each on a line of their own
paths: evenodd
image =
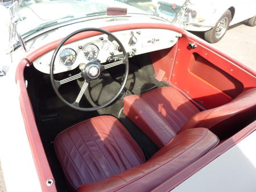
<svg viewBox="0 0 256 192">
<path fill-rule="evenodd" d="M 256 78 L 224 57 L 181 37 L 170 83 L 187 93 L 206 108 L 214 108 L 232 101 L 244 89 L 256 86 Z M 169 59 L 169 65 L 171 64 Z M 155 65 L 154 65 L 155 66 Z"/>
</svg>

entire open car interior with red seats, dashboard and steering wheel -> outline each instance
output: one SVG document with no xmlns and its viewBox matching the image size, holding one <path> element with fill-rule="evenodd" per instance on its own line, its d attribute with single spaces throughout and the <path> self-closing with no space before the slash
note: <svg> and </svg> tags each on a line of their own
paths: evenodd
<svg viewBox="0 0 256 192">
<path fill-rule="evenodd" d="M 58 191 L 153 190 L 255 120 L 253 74 L 170 25 L 147 28 L 81 30 L 24 68 Z"/>
</svg>

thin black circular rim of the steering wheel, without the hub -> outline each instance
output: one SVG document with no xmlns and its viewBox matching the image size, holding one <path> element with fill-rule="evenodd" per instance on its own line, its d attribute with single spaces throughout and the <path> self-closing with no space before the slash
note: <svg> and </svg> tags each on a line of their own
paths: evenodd
<svg viewBox="0 0 256 192">
<path fill-rule="evenodd" d="M 124 74 L 124 78 L 123 78 L 123 82 L 121 84 L 121 87 L 119 88 L 119 90 L 117 91 L 117 93 L 112 97 L 112 99 L 110 99 L 109 101 L 106 101 L 105 103 L 103 103 L 102 105 L 99 105 L 97 107 L 80 107 L 79 103 L 77 105 L 76 101 L 74 103 L 69 103 L 67 102 L 60 94 L 59 92 L 59 86 L 61 84 L 59 84 L 61 81 L 56 81 L 54 78 L 54 73 L 53 73 L 53 69 L 54 69 L 54 63 L 56 60 L 56 56 L 57 53 L 60 51 L 60 48 L 64 45 L 64 43 L 70 39 L 72 36 L 75 36 L 77 34 L 80 34 L 81 32 L 86 32 L 86 31 L 97 31 L 97 32 L 101 32 L 102 34 L 106 34 L 108 35 L 108 38 L 110 41 L 116 41 L 119 45 L 119 47 L 121 47 L 122 49 L 122 53 L 123 53 L 123 59 L 122 59 L 122 64 L 125 64 L 125 74 Z M 104 65 L 101 65 L 104 67 Z M 114 65 L 116 66 L 116 65 Z M 104 70 L 104 69 L 103 69 Z M 101 71 L 102 72 L 102 71 Z M 100 72 L 100 73 L 101 73 Z M 55 51 L 53 52 L 52 55 L 52 59 L 51 59 L 51 64 L 50 64 L 50 80 L 51 80 L 51 84 L 53 87 L 53 90 L 55 91 L 55 93 L 57 94 L 57 97 L 60 98 L 61 101 L 63 101 L 66 105 L 68 105 L 71 108 L 75 108 L 76 110 L 80 110 L 80 111 L 96 111 L 100 108 L 104 108 L 106 106 L 109 106 L 111 103 L 113 103 L 115 101 L 115 99 L 117 99 L 118 95 L 121 93 L 121 91 L 123 90 L 123 88 L 125 87 L 126 81 L 127 81 L 127 77 L 128 77 L 128 73 L 129 73 L 129 59 L 128 59 L 128 55 L 127 52 L 125 51 L 125 47 L 123 47 L 123 44 L 121 43 L 121 41 L 119 41 L 119 39 L 117 39 L 117 37 L 115 37 L 111 32 L 103 30 L 101 28 L 83 28 L 81 30 L 77 30 L 75 32 L 72 32 L 71 34 L 69 34 L 68 36 L 66 36 L 63 40 L 61 40 L 60 44 L 56 47 Z M 85 82 L 87 80 L 85 79 Z M 89 82 L 87 82 L 89 84 Z M 84 84 L 85 85 L 85 84 Z M 81 88 L 80 93 L 82 91 L 82 89 L 84 88 L 84 86 Z M 86 87 L 85 87 L 86 89 Z M 85 90 L 84 90 L 85 92 Z M 84 95 L 84 93 L 82 93 L 82 95 Z M 79 96 L 78 96 L 79 97 Z M 82 97 L 82 96 L 81 96 Z M 81 98 L 80 98 L 81 99 Z"/>
</svg>

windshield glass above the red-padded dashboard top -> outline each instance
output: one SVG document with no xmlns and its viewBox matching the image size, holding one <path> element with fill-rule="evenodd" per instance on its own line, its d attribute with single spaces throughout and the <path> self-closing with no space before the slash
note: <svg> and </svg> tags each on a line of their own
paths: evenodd
<svg viewBox="0 0 256 192">
<path fill-rule="evenodd" d="M 26 37 L 70 20 L 92 16 L 104 18 L 107 16 L 108 7 L 126 8 L 127 15 L 158 16 L 171 22 L 185 0 L 176 1 L 170 4 L 156 0 L 22 0 L 19 5 L 20 20 L 17 28 L 19 33 Z M 162 14 L 166 10 L 168 16 Z"/>
</svg>

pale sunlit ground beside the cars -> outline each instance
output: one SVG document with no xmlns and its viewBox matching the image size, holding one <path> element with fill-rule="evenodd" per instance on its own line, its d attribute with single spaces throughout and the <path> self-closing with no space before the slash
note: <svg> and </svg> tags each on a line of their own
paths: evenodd
<svg viewBox="0 0 256 192">
<path fill-rule="evenodd" d="M 194 34 L 202 37 L 200 33 Z M 256 27 L 249 27 L 243 23 L 236 24 L 229 28 L 223 39 L 213 45 L 256 70 Z M 6 192 L 1 162 L 0 192 Z"/>
</svg>

